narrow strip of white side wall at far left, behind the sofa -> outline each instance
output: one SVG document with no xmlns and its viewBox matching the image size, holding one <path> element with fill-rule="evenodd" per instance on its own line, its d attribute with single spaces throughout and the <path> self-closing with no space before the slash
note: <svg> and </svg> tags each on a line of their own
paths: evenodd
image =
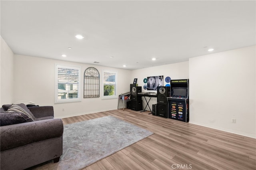
<svg viewBox="0 0 256 170">
<path fill-rule="evenodd" d="M 1 54 L 0 54 L 0 105 L 13 102 L 14 94 L 14 54 L 10 47 L 6 44 L 1 37 Z"/>
</svg>

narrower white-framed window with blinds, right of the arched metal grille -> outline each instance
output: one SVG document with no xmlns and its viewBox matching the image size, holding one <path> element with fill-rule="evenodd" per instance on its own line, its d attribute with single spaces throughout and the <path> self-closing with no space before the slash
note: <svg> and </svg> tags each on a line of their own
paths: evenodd
<svg viewBox="0 0 256 170">
<path fill-rule="evenodd" d="M 117 72 L 116 71 L 102 71 L 103 77 L 103 95 L 102 99 L 114 99 L 117 98 L 116 93 L 116 78 Z"/>
</svg>

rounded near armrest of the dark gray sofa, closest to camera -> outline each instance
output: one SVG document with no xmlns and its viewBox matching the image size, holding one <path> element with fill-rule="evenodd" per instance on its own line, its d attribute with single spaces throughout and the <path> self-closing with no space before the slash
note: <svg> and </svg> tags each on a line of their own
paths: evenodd
<svg viewBox="0 0 256 170">
<path fill-rule="evenodd" d="M 60 137 L 62 134 L 63 122 L 61 119 L 2 126 L 0 128 L 0 150 L 4 151 L 33 142 Z"/>
</svg>

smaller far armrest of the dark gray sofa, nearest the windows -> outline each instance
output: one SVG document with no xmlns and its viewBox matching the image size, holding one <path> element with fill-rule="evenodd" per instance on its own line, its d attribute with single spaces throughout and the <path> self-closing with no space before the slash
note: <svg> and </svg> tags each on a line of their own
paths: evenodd
<svg viewBox="0 0 256 170">
<path fill-rule="evenodd" d="M 39 106 L 39 107 L 28 107 L 36 118 L 39 117 L 54 117 L 53 106 Z"/>
</svg>

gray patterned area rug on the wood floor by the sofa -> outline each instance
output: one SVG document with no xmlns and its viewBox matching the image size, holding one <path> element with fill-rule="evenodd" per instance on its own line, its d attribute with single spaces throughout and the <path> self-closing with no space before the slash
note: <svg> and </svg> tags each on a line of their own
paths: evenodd
<svg viewBox="0 0 256 170">
<path fill-rule="evenodd" d="M 34 168 L 80 170 L 152 134 L 112 116 L 65 125 L 60 161 Z"/>
</svg>

